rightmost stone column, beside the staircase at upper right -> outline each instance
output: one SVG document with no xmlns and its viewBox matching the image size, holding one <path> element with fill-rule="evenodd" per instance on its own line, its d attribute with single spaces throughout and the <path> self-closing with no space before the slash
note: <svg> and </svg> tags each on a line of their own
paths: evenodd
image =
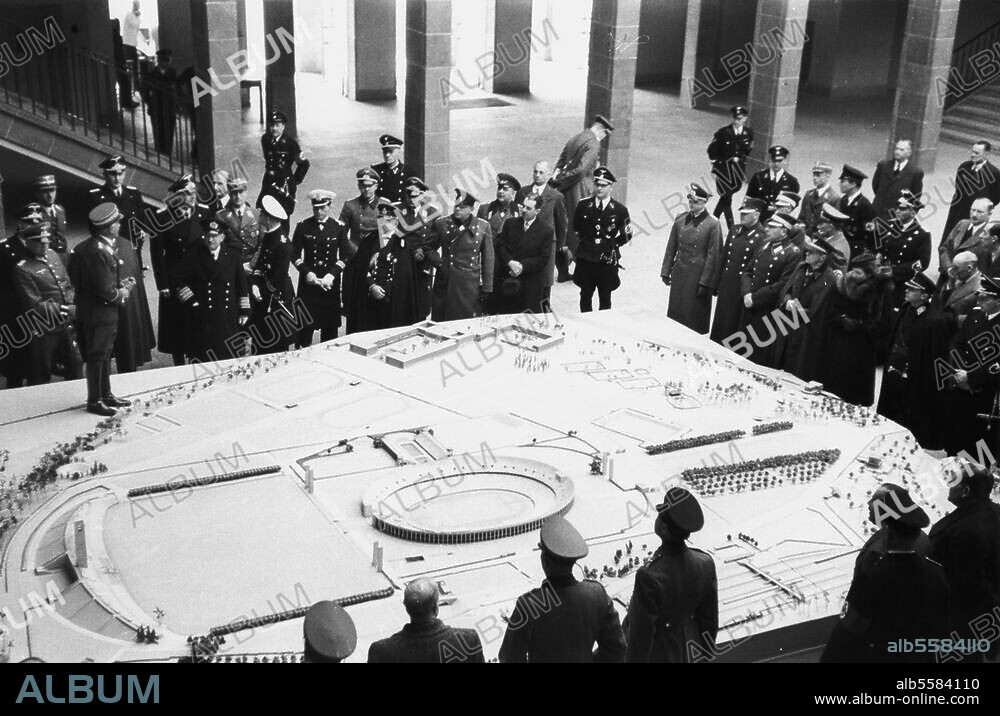
<svg viewBox="0 0 1000 716">
<path fill-rule="evenodd" d="M 944 111 L 935 82 L 951 69 L 959 2 L 910 0 L 906 15 L 889 151 L 897 139 L 912 139 L 912 161 L 928 172 L 937 162 Z"/>
</svg>

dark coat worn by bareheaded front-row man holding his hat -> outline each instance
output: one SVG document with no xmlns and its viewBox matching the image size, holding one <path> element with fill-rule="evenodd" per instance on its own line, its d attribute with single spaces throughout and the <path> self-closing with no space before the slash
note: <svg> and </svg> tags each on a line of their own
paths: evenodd
<svg viewBox="0 0 1000 716">
<path fill-rule="evenodd" d="M 545 269 L 550 264 L 554 246 L 552 227 L 543 223 L 540 217 L 535 217 L 527 232 L 524 230 L 523 216 L 508 219 L 504 223 L 497 239 L 497 280 L 493 284 L 493 294 L 500 313 L 543 313 Z M 503 292 L 503 281 L 510 276 L 508 264 L 511 261 L 521 263 L 521 275 L 518 276 L 520 289 L 507 296 Z"/>
</svg>

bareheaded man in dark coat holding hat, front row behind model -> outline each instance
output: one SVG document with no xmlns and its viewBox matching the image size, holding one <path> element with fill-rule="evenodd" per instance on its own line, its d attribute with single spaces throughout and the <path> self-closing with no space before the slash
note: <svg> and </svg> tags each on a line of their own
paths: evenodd
<svg viewBox="0 0 1000 716">
<path fill-rule="evenodd" d="M 505 221 L 497 237 L 494 295 L 499 313 L 545 310 L 545 271 L 552 263 L 555 239 L 552 227 L 538 218 L 539 202 L 534 194 L 526 194 L 520 216 Z"/>
</svg>

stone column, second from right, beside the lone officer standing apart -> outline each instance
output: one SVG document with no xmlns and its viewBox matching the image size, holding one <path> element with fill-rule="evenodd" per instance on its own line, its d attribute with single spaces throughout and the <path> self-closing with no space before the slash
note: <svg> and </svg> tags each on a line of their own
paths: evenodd
<svg viewBox="0 0 1000 716">
<path fill-rule="evenodd" d="M 795 105 L 805 44 L 809 0 L 758 0 L 750 74 L 750 126 L 755 134 L 747 174 L 766 165 L 767 148 L 782 144 L 796 152 Z M 804 160 L 803 160 L 804 161 Z M 803 175 L 805 165 L 792 174 Z"/>
</svg>

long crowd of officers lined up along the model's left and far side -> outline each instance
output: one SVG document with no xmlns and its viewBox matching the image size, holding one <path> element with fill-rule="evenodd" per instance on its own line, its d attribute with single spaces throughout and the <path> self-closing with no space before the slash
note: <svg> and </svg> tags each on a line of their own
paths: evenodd
<svg viewBox="0 0 1000 716">
<path fill-rule="evenodd" d="M 272 112 L 261 137 L 255 204 L 246 178 L 217 170 L 207 198 L 185 175 L 169 187 L 166 207 L 152 211 L 124 185 L 122 157 L 108 157 L 104 184 L 90 192 L 91 236 L 70 253 L 55 178 L 40 177 L 37 202 L 0 243 L 0 330 L 25 338 L 4 343 L 7 387 L 85 372 L 88 410 L 109 416 L 127 402 L 107 385 L 112 358 L 129 372 L 154 347 L 175 365 L 303 348 L 316 331 L 335 338 L 344 319 L 354 333 L 428 316 L 541 313 L 557 268 L 558 280 L 570 280 L 573 261 L 583 310 L 592 310 L 595 292 L 600 308 L 610 308 L 631 225 L 611 197 L 614 174 L 596 166 L 613 129 L 606 118 L 570 140 L 554 171 L 538 162 L 528 185 L 500 173 L 496 199 L 481 205 L 456 189 L 450 215 L 402 163 L 402 141 L 382 135 L 383 161 L 357 172 L 357 196 L 336 215 L 333 192 L 311 192 L 313 215 L 294 231 L 290 216 L 310 162 L 286 123 Z M 147 246 L 159 298 L 155 335 L 143 285 Z"/>
</svg>

